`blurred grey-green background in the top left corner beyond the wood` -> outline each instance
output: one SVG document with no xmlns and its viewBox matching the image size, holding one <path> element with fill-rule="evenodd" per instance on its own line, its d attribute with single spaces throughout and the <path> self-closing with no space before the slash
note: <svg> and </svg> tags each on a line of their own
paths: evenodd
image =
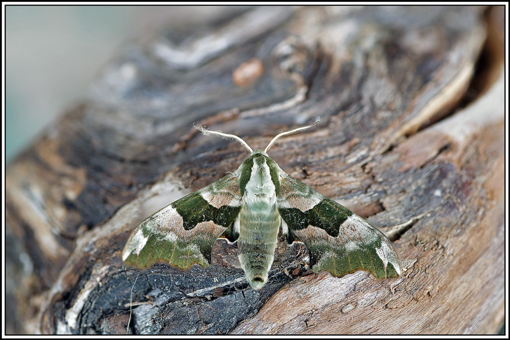
<svg viewBox="0 0 510 340">
<path fill-rule="evenodd" d="M 218 6 L 6 6 L 7 164 L 66 108 L 86 96 L 127 40 L 161 26 L 188 27 Z"/>
</svg>

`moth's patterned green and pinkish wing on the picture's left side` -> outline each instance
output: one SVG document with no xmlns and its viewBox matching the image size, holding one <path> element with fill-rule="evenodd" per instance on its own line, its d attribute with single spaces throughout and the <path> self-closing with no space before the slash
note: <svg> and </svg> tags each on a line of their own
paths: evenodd
<svg viewBox="0 0 510 340">
<path fill-rule="evenodd" d="M 219 237 L 235 241 L 234 221 L 241 210 L 237 172 L 199 189 L 148 217 L 131 233 L 122 251 L 127 265 L 167 262 L 181 269 L 211 264 Z M 232 242 L 233 242 L 232 241 Z"/>
</svg>

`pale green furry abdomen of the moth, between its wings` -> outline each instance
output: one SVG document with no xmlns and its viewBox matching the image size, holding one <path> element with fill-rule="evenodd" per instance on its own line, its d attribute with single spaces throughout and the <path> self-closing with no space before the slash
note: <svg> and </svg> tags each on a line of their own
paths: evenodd
<svg viewBox="0 0 510 340">
<path fill-rule="evenodd" d="M 239 261 L 253 289 L 261 289 L 267 282 L 280 225 L 274 205 L 257 205 L 249 208 L 243 205 L 239 215 Z"/>
</svg>

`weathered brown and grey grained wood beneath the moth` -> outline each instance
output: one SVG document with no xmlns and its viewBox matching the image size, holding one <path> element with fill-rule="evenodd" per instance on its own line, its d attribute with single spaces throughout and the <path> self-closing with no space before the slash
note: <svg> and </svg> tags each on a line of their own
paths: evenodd
<svg viewBox="0 0 510 340">
<path fill-rule="evenodd" d="M 501 13 L 233 8 L 126 46 L 88 99 L 8 168 L 13 331 L 125 333 L 130 320 L 130 333 L 496 332 Z M 207 269 L 122 265 L 141 220 L 246 158 L 193 123 L 260 148 L 317 116 L 316 128 L 282 138 L 271 157 L 384 230 L 401 277 L 315 274 L 304 247 L 282 242 L 261 291 L 223 241 Z"/>
</svg>

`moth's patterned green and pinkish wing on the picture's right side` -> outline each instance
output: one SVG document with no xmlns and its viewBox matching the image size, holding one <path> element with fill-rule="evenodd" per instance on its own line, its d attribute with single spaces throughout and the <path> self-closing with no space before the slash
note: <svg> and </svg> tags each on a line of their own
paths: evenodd
<svg viewBox="0 0 510 340">
<path fill-rule="evenodd" d="M 341 277 L 366 270 L 386 278 L 400 275 L 390 240 L 343 205 L 282 171 L 278 211 L 289 243 L 308 248 L 310 267 Z"/>
</svg>

